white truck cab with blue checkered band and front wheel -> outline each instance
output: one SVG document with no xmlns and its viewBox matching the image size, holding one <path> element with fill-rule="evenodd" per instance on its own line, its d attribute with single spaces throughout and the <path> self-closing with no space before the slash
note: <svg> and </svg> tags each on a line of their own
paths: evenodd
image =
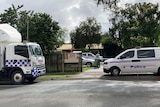
<svg viewBox="0 0 160 107">
<path fill-rule="evenodd" d="M 4 71 L 14 84 L 33 82 L 45 74 L 45 59 L 36 43 L 12 43 L 5 48 Z"/>
</svg>

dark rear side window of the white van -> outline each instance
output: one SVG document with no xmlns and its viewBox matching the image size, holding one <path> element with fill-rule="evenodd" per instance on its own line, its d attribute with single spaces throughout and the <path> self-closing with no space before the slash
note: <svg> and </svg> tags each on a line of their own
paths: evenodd
<svg viewBox="0 0 160 107">
<path fill-rule="evenodd" d="M 153 49 L 151 49 L 151 50 L 138 50 L 137 55 L 138 55 L 138 58 L 152 58 L 152 57 L 155 57 L 155 52 Z"/>
</svg>

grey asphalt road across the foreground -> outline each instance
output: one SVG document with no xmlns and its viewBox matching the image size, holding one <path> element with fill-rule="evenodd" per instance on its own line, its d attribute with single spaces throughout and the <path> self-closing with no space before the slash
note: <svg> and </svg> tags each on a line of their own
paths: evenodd
<svg viewBox="0 0 160 107">
<path fill-rule="evenodd" d="M 112 77 L 101 68 L 86 74 L 24 85 L 0 83 L 0 107 L 160 107 L 159 76 Z"/>
</svg>

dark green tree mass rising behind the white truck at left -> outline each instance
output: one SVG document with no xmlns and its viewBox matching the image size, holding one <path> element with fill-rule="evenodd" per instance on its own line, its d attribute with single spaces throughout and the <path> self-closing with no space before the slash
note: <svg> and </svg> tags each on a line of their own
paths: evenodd
<svg viewBox="0 0 160 107">
<path fill-rule="evenodd" d="M 45 54 L 55 50 L 64 41 L 63 29 L 46 13 L 21 11 L 23 5 L 6 9 L 0 14 L 0 23 L 9 23 L 21 33 L 22 39 L 37 42 Z"/>
</svg>

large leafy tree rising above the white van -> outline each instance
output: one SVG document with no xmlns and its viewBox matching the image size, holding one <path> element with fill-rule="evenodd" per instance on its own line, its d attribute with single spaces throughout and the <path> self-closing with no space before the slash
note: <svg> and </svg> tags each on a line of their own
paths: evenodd
<svg viewBox="0 0 160 107">
<path fill-rule="evenodd" d="M 160 12 L 158 4 L 136 3 L 126 4 L 125 8 L 117 8 L 111 19 L 110 34 L 124 48 L 135 45 L 154 46 Z"/>
</svg>

